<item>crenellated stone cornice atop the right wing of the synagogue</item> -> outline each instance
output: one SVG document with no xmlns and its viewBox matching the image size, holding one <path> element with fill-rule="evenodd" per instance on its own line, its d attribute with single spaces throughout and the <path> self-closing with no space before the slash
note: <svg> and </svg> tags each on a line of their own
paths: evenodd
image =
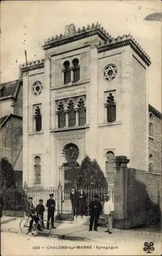
<svg viewBox="0 0 162 256">
<path fill-rule="evenodd" d="M 106 42 L 103 42 L 98 47 L 98 52 L 105 52 L 111 49 L 117 49 L 120 47 L 124 47 L 130 45 L 130 47 L 140 56 L 143 61 L 150 66 L 151 61 L 148 54 L 144 51 L 144 49 L 138 44 L 138 42 L 130 35 L 118 36 L 117 38 L 109 38 Z"/>
</svg>

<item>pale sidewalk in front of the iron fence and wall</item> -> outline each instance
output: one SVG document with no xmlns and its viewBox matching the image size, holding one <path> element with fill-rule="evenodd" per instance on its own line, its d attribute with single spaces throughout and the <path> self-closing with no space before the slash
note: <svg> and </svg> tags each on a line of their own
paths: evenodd
<svg viewBox="0 0 162 256">
<path fill-rule="evenodd" d="M 20 233 L 19 223 L 21 218 L 19 217 L 7 217 L 1 218 L 1 231 L 2 232 L 15 232 Z M 105 227 L 98 227 L 97 231 L 88 231 L 88 226 L 83 224 L 77 224 L 75 222 L 55 222 L 57 229 L 52 229 L 50 237 L 57 237 L 67 240 L 79 240 L 79 241 L 97 241 L 97 242 L 112 242 L 117 244 L 122 241 L 134 243 L 137 240 L 153 241 L 161 243 L 161 233 L 157 232 L 155 228 L 145 229 L 113 229 L 112 234 L 105 233 Z"/>
</svg>

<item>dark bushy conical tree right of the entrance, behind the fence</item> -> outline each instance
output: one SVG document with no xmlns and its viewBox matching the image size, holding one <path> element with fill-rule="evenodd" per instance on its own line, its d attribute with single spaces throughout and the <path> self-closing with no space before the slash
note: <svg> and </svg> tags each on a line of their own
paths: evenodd
<svg viewBox="0 0 162 256">
<path fill-rule="evenodd" d="M 91 160 L 86 156 L 80 167 L 79 167 L 79 177 L 77 179 L 77 186 L 82 186 L 83 188 L 107 188 L 106 178 L 98 164 L 97 160 Z"/>
</svg>

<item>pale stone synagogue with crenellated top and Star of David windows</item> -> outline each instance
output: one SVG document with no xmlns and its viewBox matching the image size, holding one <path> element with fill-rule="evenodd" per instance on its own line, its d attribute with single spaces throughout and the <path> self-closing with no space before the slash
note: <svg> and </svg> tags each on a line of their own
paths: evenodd
<svg viewBox="0 0 162 256">
<path fill-rule="evenodd" d="M 98 160 L 111 184 L 112 156 L 160 173 L 161 115 L 149 105 L 151 62 L 135 39 L 112 38 L 99 24 L 71 24 L 43 49 L 44 59 L 21 65 L 24 181 L 56 186 L 64 180 L 60 166 L 70 180 L 85 155 Z"/>
</svg>

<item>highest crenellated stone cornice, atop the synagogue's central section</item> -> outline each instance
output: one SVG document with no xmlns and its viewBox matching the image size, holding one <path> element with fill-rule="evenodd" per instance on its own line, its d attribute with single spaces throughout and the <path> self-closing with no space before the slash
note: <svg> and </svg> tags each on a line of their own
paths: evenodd
<svg viewBox="0 0 162 256">
<path fill-rule="evenodd" d="M 109 37 L 106 30 L 98 23 L 96 25 L 92 23 L 91 26 L 87 25 L 87 28 L 83 26 L 82 29 L 78 28 L 78 30 L 76 30 L 74 24 L 66 25 L 66 28 L 68 29 L 67 34 L 65 32 L 64 35 L 60 34 L 59 36 L 48 38 L 47 41 L 44 40 L 43 50 L 65 45 L 92 35 L 98 35 L 104 41 L 107 41 Z"/>
</svg>

